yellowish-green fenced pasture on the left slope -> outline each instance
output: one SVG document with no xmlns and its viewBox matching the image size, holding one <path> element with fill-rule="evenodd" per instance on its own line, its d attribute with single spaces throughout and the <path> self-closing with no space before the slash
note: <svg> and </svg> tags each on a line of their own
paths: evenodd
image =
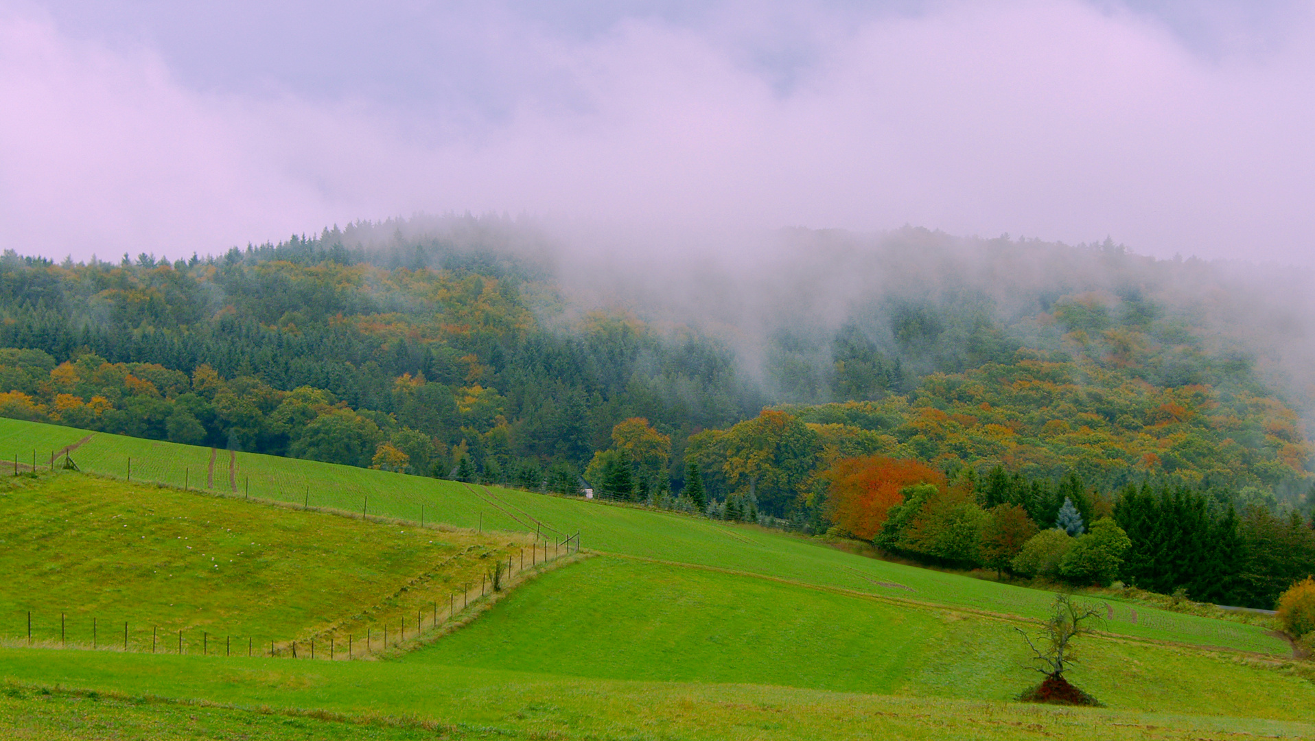
<svg viewBox="0 0 1315 741">
<path fill-rule="evenodd" d="M 414 635 L 452 591 L 518 553 L 519 533 L 377 523 L 72 472 L 0 477 L 0 636 L 201 650 L 247 637 L 256 650 L 384 625 Z M 458 598 L 458 608 L 460 607 Z M 435 603 L 438 603 L 435 606 Z M 93 636 L 92 619 L 96 620 Z M 377 645 L 377 644 L 376 644 Z M 214 650 L 214 646 L 210 646 Z M 321 644 L 327 653 L 327 646 Z"/>
</svg>

